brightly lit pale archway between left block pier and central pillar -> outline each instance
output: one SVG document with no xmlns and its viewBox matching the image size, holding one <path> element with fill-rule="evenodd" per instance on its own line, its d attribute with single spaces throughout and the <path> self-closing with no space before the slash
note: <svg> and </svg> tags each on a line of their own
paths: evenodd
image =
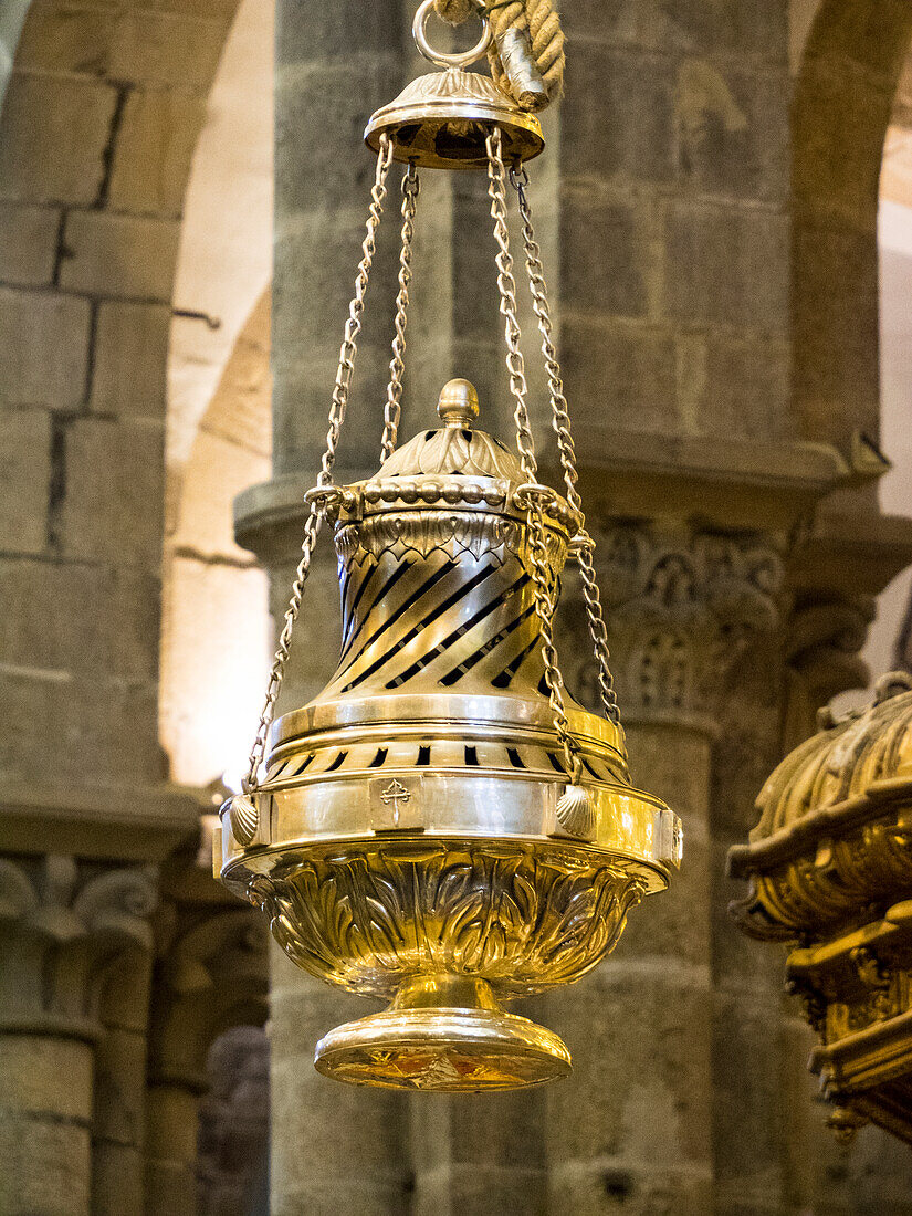
<svg viewBox="0 0 912 1216">
<path fill-rule="evenodd" d="M 159 726 L 174 779 L 240 778 L 265 687 L 265 578 L 232 497 L 269 474 L 272 5 L 242 0 L 187 184 L 168 350 Z"/>
</svg>

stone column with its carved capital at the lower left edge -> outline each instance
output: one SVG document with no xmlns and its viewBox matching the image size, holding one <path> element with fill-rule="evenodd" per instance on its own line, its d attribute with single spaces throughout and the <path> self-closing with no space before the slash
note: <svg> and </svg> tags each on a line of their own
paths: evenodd
<svg viewBox="0 0 912 1216">
<path fill-rule="evenodd" d="M 92 1135 L 111 1060 L 96 1051 L 123 976 L 148 973 L 156 897 L 147 868 L 0 858 L 4 1216 L 141 1216 L 135 1160 L 122 1162 L 117 1207 L 98 1194 Z"/>
</svg>

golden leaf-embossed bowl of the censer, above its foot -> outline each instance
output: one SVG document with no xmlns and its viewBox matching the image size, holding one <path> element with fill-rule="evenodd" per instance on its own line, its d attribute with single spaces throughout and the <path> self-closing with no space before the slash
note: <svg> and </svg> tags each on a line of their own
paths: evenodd
<svg viewBox="0 0 912 1216">
<path fill-rule="evenodd" d="M 482 841 L 311 850 L 248 888 L 282 948 L 351 992 L 388 997 L 429 974 L 484 978 L 507 1000 L 581 979 L 642 894 L 584 850 Z"/>
</svg>

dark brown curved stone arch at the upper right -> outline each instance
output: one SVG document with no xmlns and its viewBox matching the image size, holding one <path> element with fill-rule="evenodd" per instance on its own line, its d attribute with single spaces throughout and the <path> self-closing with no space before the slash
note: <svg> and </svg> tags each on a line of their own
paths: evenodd
<svg viewBox="0 0 912 1216">
<path fill-rule="evenodd" d="M 823 0 L 793 125 L 795 410 L 805 438 L 878 433 L 878 182 L 912 38 L 902 0 Z"/>
</svg>

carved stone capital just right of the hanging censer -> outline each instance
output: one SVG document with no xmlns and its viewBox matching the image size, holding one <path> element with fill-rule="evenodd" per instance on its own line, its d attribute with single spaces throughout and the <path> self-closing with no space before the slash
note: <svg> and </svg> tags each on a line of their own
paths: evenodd
<svg viewBox="0 0 912 1216">
<path fill-rule="evenodd" d="M 642 524 L 595 539 L 621 711 L 711 715 L 730 666 L 777 627 L 777 548 Z"/>
</svg>

